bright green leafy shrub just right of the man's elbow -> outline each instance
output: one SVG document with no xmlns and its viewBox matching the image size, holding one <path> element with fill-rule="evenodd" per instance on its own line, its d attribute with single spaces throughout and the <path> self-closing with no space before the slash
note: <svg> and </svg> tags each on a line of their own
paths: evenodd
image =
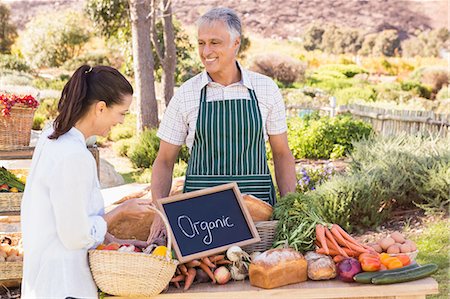
<svg viewBox="0 0 450 299">
<path fill-rule="evenodd" d="M 372 127 L 349 115 L 319 117 L 314 113 L 288 121 L 289 146 L 295 158 L 339 158 L 352 149 L 352 141 L 368 137 Z"/>
</svg>

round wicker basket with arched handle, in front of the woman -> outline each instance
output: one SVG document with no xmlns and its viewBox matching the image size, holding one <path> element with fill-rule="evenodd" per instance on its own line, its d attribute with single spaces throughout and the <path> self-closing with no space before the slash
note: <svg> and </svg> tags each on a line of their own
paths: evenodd
<svg viewBox="0 0 450 299">
<path fill-rule="evenodd" d="M 163 219 L 164 215 L 156 208 Z M 103 292 L 115 296 L 155 296 L 164 290 L 172 279 L 178 265 L 172 260 L 172 240 L 167 236 L 165 257 L 138 252 L 90 250 L 89 264 L 95 283 Z"/>
</svg>

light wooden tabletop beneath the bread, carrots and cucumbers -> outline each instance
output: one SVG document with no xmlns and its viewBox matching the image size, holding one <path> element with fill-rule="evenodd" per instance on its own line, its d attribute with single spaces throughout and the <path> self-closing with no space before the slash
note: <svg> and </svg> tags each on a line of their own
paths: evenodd
<svg viewBox="0 0 450 299">
<path fill-rule="evenodd" d="M 252 287 L 249 281 L 230 282 L 226 285 L 202 283 L 189 291 L 170 287 L 153 298 L 161 299 L 298 299 L 298 298 L 377 298 L 419 299 L 437 294 L 438 284 L 431 277 L 390 285 L 345 283 L 338 280 L 311 281 L 265 290 Z M 112 297 L 124 299 L 127 297 Z"/>
</svg>

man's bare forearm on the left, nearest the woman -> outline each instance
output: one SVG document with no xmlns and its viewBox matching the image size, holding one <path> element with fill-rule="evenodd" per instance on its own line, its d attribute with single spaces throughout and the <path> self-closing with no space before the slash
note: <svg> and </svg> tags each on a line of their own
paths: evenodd
<svg viewBox="0 0 450 299">
<path fill-rule="evenodd" d="M 172 187 L 172 166 L 165 165 L 156 159 L 152 169 L 152 199 L 157 200 L 169 196 Z"/>
</svg>

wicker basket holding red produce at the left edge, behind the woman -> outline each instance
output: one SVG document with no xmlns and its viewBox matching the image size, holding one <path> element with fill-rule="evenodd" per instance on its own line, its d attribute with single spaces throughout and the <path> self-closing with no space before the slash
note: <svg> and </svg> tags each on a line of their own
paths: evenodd
<svg viewBox="0 0 450 299">
<path fill-rule="evenodd" d="M 13 106 L 11 115 L 0 116 L 0 149 L 16 149 L 30 145 L 35 109 Z"/>
</svg>

